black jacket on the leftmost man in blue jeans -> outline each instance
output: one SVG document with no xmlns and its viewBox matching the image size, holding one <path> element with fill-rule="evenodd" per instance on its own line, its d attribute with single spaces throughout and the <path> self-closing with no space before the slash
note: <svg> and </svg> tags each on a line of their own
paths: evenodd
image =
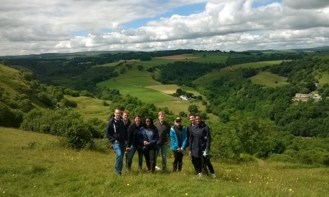
<svg viewBox="0 0 329 197">
<path fill-rule="evenodd" d="M 127 141 L 127 126 L 122 117 L 119 120 L 114 119 L 114 115 L 110 117 L 110 121 L 108 121 L 108 125 L 106 126 L 106 137 L 112 143 L 116 140 L 120 143 Z"/>
</svg>

